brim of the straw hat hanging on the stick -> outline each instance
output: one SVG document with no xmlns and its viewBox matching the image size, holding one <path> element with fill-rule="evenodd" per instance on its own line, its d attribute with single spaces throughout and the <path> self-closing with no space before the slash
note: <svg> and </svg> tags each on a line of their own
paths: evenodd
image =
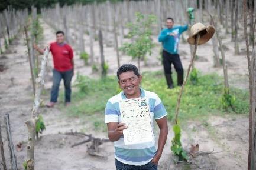
<svg viewBox="0 0 256 170">
<path fill-rule="evenodd" d="M 187 38 L 187 42 L 189 42 L 189 44 L 193 44 L 195 45 L 195 41 L 196 41 L 196 34 L 201 34 L 200 35 L 200 39 L 198 41 L 198 45 L 200 44 L 205 44 L 206 42 L 209 41 L 210 38 L 212 38 L 212 36 L 215 33 L 215 28 L 213 26 L 207 26 L 197 32 L 195 32 L 195 34 L 191 35 L 189 38 Z"/>
</svg>

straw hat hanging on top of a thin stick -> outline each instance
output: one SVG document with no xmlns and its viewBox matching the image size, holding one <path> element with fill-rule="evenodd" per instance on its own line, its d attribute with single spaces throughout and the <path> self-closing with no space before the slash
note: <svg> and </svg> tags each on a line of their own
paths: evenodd
<svg viewBox="0 0 256 170">
<path fill-rule="evenodd" d="M 200 34 L 200 39 L 198 44 L 204 44 L 212 38 L 215 32 L 215 28 L 213 26 L 205 26 L 200 22 L 197 22 L 190 28 L 190 36 L 187 38 L 187 42 L 189 44 L 195 44 L 196 34 Z"/>
</svg>

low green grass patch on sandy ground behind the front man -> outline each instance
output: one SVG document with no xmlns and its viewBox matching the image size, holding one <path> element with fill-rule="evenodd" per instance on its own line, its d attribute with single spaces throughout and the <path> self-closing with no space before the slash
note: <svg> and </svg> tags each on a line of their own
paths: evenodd
<svg viewBox="0 0 256 170">
<path fill-rule="evenodd" d="M 167 89 L 166 79 L 161 71 L 144 72 L 142 74 L 142 88 L 155 92 L 163 101 L 168 112 L 168 119 L 174 118 L 174 112 L 177 102 L 177 95 L 180 87 Z M 105 105 L 109 98 L 118 94 L 118 80 L 115 76 L 106 76 L 104 79 L 87 79 L 88 86 L 86 92 L 81 92 L 79 86 L 73 90 L 72 105 L 67 108 L 69 116 L 95 118 L 93 124 L 98 128 L 98 118 L 104 119 Z M 176 74 L 173 74 L 174 84 Z M 223 93 L 223 78 L 216 74 L 200 75 L 198 82 L 193 85 L 190 81 L 185 87 L 180 105 L 180 120 L 202 119 L 209 115 L 248 114 L 249 112 L 249 94 L 248 91 L 231 88 L 230 93 L 235 96 L 234 110 L 225 111 L 221 106 L 221 96 Z M 66 108 L 65 108 L 66 109 Z"/>
</svg>

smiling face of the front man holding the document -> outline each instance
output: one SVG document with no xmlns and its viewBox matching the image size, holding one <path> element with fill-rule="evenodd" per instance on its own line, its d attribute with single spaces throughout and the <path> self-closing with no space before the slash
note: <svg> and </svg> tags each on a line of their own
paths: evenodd
<svg viewBox="0 0 256 170">
<path fill-rule="evenodd" d="M 140 94 L 140 82 L 142 76 L 137 76 L 133 71 L 123 72 L 119 75 L 119 86 L 127 98 L 136 98 Z"/>
</svg>

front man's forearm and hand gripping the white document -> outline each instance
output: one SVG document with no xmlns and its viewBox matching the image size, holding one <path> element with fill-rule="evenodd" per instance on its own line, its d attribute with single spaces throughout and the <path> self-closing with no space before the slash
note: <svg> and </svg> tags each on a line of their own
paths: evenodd
<svg viewBox="0 0 256 170">
<path fill-rule="evenodd" d="M 115 142 L 118 141 L 121 136 L 123 135 L 123 130 L 127 129 L 127 126 L 123 123 L 118 122 L 110 122 L 107 124 L 108 125 L 108 138 L 109 141 Z"/>
</svg>

